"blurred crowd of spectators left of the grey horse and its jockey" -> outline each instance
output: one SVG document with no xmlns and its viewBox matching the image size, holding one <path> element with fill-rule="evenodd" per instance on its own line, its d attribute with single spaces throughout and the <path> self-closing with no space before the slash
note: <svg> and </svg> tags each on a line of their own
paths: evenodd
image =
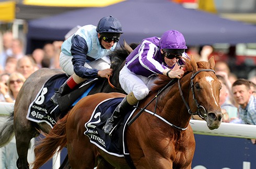
<svg viewBox="0 0 256 169">
<path fill-rule="evenodd" d="M 59 54 L 62 41 L 47 43 L 42 48 L 34 49 L 25 55 L 24 42 L 14 38 L 11 32 L 2 36 L 0 47 L 0 101 L 14 103 L 18 92 L 26 79 L 41 68 L 60 69 Z M 1 41 L 1 39 L 0 39 Z M 2 50 L 1 50 L 2 49 Z M 17 168 L 15 137 L 8 145 L 1 148 L 2 168 Z"/>
</svg>

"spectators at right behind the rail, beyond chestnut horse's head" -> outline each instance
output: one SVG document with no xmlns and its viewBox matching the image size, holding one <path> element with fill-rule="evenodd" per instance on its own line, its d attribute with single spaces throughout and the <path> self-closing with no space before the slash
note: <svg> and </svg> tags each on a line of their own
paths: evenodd
<svg viewBox="0 0 256 169">
<path fill-rule="evenodd" d="M 196 61 L 207 61 L 212 56 L 213 48 L 204 46 L 200 53 L 194 48 L 188 51 L 196 56 Z M 222 89 L 220 89 L 219 105 L 223 112 L 223 122 L 256 124 L 256 69 L 248 73 L 247 79 L 241 79 L 230 71 L 225 61 L 217 61 L 214 67 L 216 76 Z M 250 87 L 249 87 L 250 85 Z M 193 119 L 202 120 L 199 116 Z"/>
</svg>

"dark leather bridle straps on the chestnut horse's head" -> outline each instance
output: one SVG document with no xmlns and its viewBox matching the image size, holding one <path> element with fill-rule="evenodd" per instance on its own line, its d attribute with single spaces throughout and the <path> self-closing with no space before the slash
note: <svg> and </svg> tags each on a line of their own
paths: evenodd
<svg viewBox="0 0 256 169">
<path fill-rule="evenodd" d="M 194 79 L 195 75 L 198 74 L 198 73 L 200 73 L 200 72 L 202 72 L 202 71 L 211 71 L 211 72 L 214 72 L 214 73 L 215 73 L 215 71 L 212 70 L 212 69 L 202 69 L 202 70 L 199 70 L 199 71 L 193 73 L 192 76 L 190 77 L 190 79 L 191 79 L 191 81 L 190 81 L 190 88 L 191 88 L 193 100 L 195 100 L 195 103 L 196 103 L 196 107 L 197 107 L 196 112 L 193 113 L 193 112 L 190 110 L 188 103 L 185 101 L 185 99 L 184 99 L 184 97 L 183 97 L 183 93 L 182 93 L 181 86 L 180 86 L 180 79 L 178 80 L 178 87 L 179 87 L 179 90 L 180 90 L 180 96 L 181 96 L 181 98 L 182 98 L 182 100 L 183 100 L 185 106 L 187 107 L 189 114 L 191 114 L 191 115 L 199 115 L 200 118 L 204 119 L 207 114 L 206 114 L 205 108 L 204 108 L 203 106 L 199 105 L 198 101 L 197 101 L 196 98 L 195 98 L 195 94 L 194 94 L 194 83 L 193 83 L 193 79 Z M 200 110 L 203 110 L 203 112 L 204 112 L 203 115 L 202 115 L 202 113 L 200 113 Z"/>
</svg>

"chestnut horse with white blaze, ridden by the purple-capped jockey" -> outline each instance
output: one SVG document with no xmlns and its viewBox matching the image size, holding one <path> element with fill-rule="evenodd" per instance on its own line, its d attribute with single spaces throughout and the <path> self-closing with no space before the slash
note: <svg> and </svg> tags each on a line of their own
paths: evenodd
<svg viewBox="0 0 256 169">
<path fill-rule="evenodd" d="M 187 72 L 178 83 L 156 97 L 170 81 L 169 77 L 159 75 L 149 95 L 139 101 L 137 107 L 144 108 L 156 98 L 126 129 L 125 141 L 136 168 L 191 168 L 195 151 L 195 139 L 189 124 L 191 115 L 200 115 L 210 129 L 218 128 L 222 122 L 219 106 L 221 84 L 213 71 L 214 66 L 213 57 L 208 62 L 197 63 L 187 59 Z M 91 144 L 84 135 L 85 123 L 96 106 L 115 97 L 124 95 L 98 93 L 80 100 L 35 148 L 34 168 L 51 159 L 59 146 L 60 150 L 67 146 L 72 168 L 130 168 L 123 157 L 108 154 Z"/>
</svg>

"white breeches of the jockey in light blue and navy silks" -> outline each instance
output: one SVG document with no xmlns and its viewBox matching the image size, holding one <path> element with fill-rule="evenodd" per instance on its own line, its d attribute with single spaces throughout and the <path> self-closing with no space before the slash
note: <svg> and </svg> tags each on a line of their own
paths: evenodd
<svg viewBox="0 0 256 169">
<path fill-rule="evenodd" d="M 71 56 L 67 56 L 61 52 L 60 54 L 60 66 L 64 72 L 66 72 L 68 75 L 75 74 L 74 72 L 74 66 L 72 63 Z M 94 68 L 98 70 L 104 70 L 110 68 L 110 59 L 108 56 L 104 56 L 101 59 L 86 62 L 85 63 L 86 68 Z"/>
</svg>

